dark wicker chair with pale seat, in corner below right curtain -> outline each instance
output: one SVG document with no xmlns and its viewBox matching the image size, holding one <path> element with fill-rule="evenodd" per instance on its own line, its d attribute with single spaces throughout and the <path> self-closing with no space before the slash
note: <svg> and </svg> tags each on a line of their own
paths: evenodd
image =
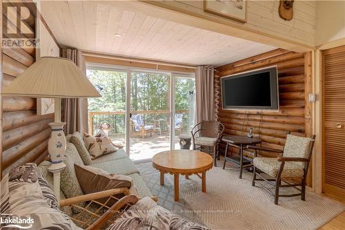
<svg viewBox="0 0 345 230">
<path fill-rule="evenodd" d="M 193 149 L 213 153 L 213 164 L 215 166 L 217 166 L 216 157 L 219 160 L 218 146 L 223 132 L 224 125 L 217 121 L 200 122 L 190 131 L 192 133 Z M 199 146 L 199 148 L 196 148 L 196 146 Z"/>
</svg>

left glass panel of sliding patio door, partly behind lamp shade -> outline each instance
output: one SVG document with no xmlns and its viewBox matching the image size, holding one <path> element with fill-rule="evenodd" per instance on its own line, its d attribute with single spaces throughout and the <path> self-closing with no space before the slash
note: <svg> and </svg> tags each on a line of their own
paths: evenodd
<svg viewBox="0 0 345 230">
<path fill-rule="evenodd" d="M 126 71 L 97 67 L 88 68 L 86 75 L 101 94 L 88 99 L 89 133 L 96 135 L 101 128 L 126 148 Z"/>
</svg>

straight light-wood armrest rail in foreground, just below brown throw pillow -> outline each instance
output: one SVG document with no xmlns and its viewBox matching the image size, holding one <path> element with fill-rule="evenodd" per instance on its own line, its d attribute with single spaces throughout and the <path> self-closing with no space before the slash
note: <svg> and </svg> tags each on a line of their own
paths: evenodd
<svg viewBox="0 0 345 230">
<path fill-rule="evenodd" d="M 117 189 L 109 189 L 106 191 L 100 191 L 98 193 L 79 195 L 75 198 L 60 200 L 60 207 L 63 207 L 66 205 L 78 204 L 79 202 L 97 200 L 100 198 L 108 198 L 110 195 L 117 195 L 117 194 L 129 195 L 130 191 L 127 187 L 122 187 L 122 188 L 117 188 Z"/>
</svg>

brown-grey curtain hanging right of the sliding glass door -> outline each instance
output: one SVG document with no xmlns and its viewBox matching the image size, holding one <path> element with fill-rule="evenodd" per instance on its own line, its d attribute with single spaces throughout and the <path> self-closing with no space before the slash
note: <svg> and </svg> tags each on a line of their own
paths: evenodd
<svg viewBox="0 0 345 230">
<path fill-rule="evenodd" d="M 195 72 L 197 88 L 197 123 L 215 119 L 214 68 L 199 66 Z"/>
</svg>

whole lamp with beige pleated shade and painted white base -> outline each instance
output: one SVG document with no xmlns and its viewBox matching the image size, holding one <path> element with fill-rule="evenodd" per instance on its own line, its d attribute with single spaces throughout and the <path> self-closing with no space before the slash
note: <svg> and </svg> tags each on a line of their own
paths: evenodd
<svg viewBox="0 0 345 230">
<path fill-rule="evenodd" d="M 49 123 L 52 134 L 48 153 L 50 171 L 59 171 L 66 151 L 65 122 L 61 122 L 61 98 L 101 97 L 85 74 L 70 59 L 41 57 L 3 90 L 4 96 L 55 98 L 55 119 Z"/>
</svg>

